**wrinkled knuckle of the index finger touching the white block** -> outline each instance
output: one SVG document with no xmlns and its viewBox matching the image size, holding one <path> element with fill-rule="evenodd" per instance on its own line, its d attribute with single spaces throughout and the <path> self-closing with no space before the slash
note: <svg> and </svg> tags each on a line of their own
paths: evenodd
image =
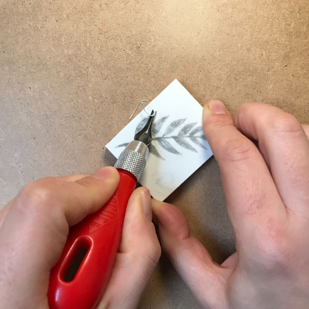
<svg viewBox="0 0 309 309">
<path fill-rule="evenodd" d="M 224 159 L 239 162 L 253 156 L 252 146 L 252 143 L 246 138 L 238 137 L 221 142 L 220 148 Z"/>
</svg>

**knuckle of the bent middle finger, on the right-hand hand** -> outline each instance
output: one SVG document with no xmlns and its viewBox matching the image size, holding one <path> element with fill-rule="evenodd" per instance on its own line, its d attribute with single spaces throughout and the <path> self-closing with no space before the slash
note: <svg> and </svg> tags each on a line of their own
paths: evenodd
<svg viewBox="0 0 309 309">
<path fill-rule="evenodd" d="M 266 125 L 279 136 L 299 136 L 303 133 L 302 126 L 298 120 L 291 114 L 277 112 L 267 119 Z"/>
</svg>

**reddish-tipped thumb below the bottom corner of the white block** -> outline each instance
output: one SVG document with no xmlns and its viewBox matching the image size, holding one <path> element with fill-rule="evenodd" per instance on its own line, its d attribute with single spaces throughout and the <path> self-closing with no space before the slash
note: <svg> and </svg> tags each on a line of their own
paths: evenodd
<svg viewBox="0 0 309 309">
<path fill-rule="evenodd" d="M 162 249 L 197 300 L 206 308 L 227 308 L 226 280 L 231 269 L 212 260 L 205 247 L 190 236 L 187 219 L 174 205 L 152 200 Z"/>
</svg>

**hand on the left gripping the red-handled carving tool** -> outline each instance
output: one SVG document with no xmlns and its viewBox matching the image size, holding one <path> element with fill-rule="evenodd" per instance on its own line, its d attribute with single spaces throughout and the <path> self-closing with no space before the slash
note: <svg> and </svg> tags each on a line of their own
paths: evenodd
<svg viewBox="0 0 309 309">
<path fill-rule="evenodd" d="M 49 273 L 60 258 L 69 226 L 104 205 L 118 182 L 113 167 L 91 176 L 42 178 L 26 184 L 1 210 L 1 307 L 48 308 Z M 151 216 L 149 190 L 136 189 L 125 213 L 112 275 L 97 309 L 137 307 L 161 253 Z"/>
</svg>

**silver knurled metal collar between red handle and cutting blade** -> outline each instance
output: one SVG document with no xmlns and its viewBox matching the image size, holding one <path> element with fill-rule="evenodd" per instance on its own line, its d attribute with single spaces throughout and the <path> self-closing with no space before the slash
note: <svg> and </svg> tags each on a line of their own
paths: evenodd
<svg viewBox="0 0 309 309">
<path fill-rule="evenodd" d="M 121 152 L 114 167 L 129 171 L 139 180 L 146 166 L 148 153 L 149 150 L 146 144 L 139 141 L 132 141 Z"/>
</svg>

